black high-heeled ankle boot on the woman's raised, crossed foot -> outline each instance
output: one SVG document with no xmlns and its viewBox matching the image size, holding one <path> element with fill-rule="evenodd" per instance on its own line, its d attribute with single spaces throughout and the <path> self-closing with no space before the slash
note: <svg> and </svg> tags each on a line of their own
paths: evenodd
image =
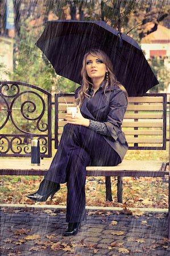
<svg viewBox="0 0 170 256">
<path fill-rule="evenodd" d="M 60 184 L 55 183 L 50 180 L 43 180 L 40 183 L 40 187 L 37 192 L 34 194 L 27 195 L 28 199 L 38 201 L 38 202 L 45 202 L 49 196 L 51 196 L 51 200 L 55 193 L 59 191 Z"/>
</svg>

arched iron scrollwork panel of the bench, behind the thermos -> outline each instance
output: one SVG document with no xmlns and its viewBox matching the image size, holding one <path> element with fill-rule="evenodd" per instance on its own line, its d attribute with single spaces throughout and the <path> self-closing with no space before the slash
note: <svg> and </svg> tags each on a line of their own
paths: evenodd
<svg viewBox="0 0 170 256">
<path fill-rule="evenodd" d="M 51 156 L 51 94 L 22 82 L 0 82 L 0 156 L 30 156 L 31 139 Z"/>
</svg>

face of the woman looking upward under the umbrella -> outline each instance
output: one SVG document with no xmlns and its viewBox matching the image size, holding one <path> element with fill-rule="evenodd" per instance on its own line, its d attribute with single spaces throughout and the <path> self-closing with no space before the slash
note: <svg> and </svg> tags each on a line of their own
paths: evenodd
<svg viewBox="0 0 170 256">
<path fill-rule="evenodd" d="M 104 79 L 107 68 L 98 57 L 89 54 L 86 57 L 86 72 L 92 81 L 95 79 Z"/>
</svg>

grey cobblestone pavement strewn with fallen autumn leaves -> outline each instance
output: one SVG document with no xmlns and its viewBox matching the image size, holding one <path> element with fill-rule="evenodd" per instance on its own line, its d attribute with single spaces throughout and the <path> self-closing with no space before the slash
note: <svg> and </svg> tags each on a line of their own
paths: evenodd
<svg viewBox="0 0 170 256">
<path fill-rule="evenodd" d="M 88 210 L 86 224 L 73 237 L 63 237 L 63 209 L 3 207 L 0 213 L 2 256 L 170 255 L 167 213 Z"/>
</svg>

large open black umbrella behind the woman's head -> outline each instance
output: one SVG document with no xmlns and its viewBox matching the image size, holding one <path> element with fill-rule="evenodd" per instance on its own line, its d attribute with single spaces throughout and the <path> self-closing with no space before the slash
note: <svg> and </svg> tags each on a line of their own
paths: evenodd
<svg viewBox="0 0 170 256">
<path fill-rule="evenodd" d="M 115 76 L 129 96 L 146 93 L 159 84 L 138 43 L 103 21 L 49 21 L 36 46 L 42 49 L 58 75 L 78 84 L 81 84 L 83 56 L 94 48 L 110 57 Z"/>
</svg>

